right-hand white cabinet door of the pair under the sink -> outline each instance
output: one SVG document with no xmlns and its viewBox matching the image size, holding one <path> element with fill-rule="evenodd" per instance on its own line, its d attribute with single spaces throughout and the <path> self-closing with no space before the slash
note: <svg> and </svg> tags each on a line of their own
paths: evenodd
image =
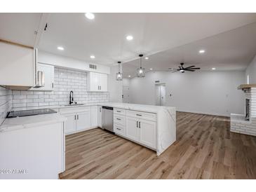
<svg viewBox="0 0 256 192">
<path fill-rule="evenodd" d="M 76 113 L 76 130 L 86 130 L 90 127 L 90 110 Z"/>
</svg>

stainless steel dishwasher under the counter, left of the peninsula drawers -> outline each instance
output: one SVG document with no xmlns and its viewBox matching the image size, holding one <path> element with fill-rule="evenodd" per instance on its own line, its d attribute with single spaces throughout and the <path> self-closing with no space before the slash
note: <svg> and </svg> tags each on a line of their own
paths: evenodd
<svg viewBox="0 0 256 192">
<path fill-rule="evenodd" d="M 102 106 L 102 128 L 113 132 L 113 107 Z"/>
</svg>

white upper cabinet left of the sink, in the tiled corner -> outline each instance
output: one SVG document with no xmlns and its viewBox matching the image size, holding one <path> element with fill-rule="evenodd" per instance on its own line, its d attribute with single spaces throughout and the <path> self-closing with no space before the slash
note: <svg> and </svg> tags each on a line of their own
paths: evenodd
<svg viewBox="0 0 256 192">
<path fill-rule="evenodd" d="M 43 72 L 43 86 L 30 90 L 51 91 L 54 88 L 54 66 L 49 64 L 36 64 L 36 73 Z"/>
</svg>

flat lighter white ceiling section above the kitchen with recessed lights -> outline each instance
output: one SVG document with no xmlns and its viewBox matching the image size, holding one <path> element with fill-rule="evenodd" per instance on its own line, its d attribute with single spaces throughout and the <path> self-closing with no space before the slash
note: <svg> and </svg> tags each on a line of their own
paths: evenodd
<svg viewBox="0 0 256 192">
<path fill-rule="evenodd" d="M 133 60 L 137 53 L 156 53 L 252 22 L 252 13 L 95 13 L 95 20 L 83 13 L 51 13 L 39 48 L 112 65 Z M 126 40 L 127 34 L 133 41 Z"/>
</svg>

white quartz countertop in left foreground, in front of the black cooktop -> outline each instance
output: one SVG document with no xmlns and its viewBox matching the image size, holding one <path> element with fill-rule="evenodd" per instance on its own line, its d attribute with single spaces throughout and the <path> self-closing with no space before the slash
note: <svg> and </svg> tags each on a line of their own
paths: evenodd
<svg viewBox="0 0 256 192">
<path fill-rule="evenodd" d="M 0 133 L 22 128 L 32 128 L 40 125 L 58 123 L 66 121 L 65 116 L 60 114 L 43 114 L 37 116 L 24 116 L 16 118 L 6 118 L 0 126 Z"/>
</svg>

